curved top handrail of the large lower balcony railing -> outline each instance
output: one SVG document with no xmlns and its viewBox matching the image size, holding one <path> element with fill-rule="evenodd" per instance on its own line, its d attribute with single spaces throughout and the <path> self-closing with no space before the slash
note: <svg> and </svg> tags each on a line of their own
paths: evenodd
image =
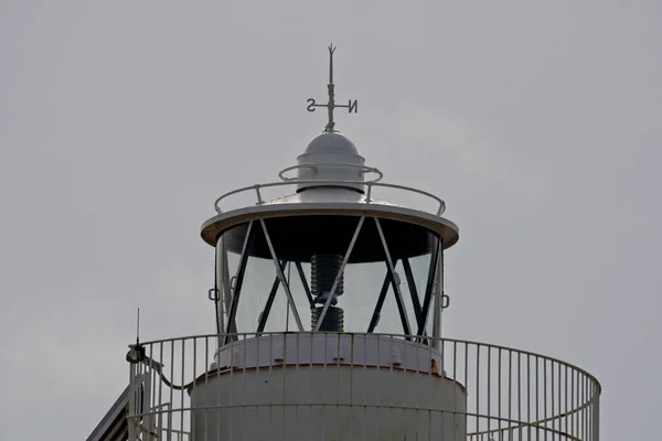
<svg viewBox="0 0 662 441">
<path fill-rule="evenodd" d="M 246 337 L 258 337 L 258 336 L 264 336 L 264 335 L 292 335 L 292 334 L 327 334 L 327 335 L 338 335 L 338 336 L 342 336 L 342 335 L 374 335 L 376 337 L 391 337 L 391 338 L 420 338 L 420 335 L 407 335 L 407 334 L 388 334 L 388 333 L 366 333 L 366 332 L 313 332 L 313 331 L 303 331 L 303 332 L 299 332 L 299 331 L 273 331 L 273 332 L 237 332 L 237 333 L 222 333 L 222 334 L 199 334 L 199 335 L 185 335 L 185 336 L 181 336 L 181 337 L 171 337 L 171 338 L 161 338 L 161 340 L 153 340 L 153 341 L 149 341 L 149 342 L 140 342 L 141 346 L 145 345 L 154 345 L 154 344 L 163 344 L 163 343 L 174 343 L 174 342 L 182 342 L 182 341 L 188 341 L 188 340 L 196 340 L 196 338 L 223 338 L 226 336 L 236 336 L 236 337 L 241 337 L 243 336 L 244 340 Z M 584 376 L 586 376 L 588 379 L 590 379 L 590 381 L 597 387 L 596 390 L 596 395 L 600 395 L 602 392 L 602 386 L 600 385 L 600 381 L 598 381 L 598 379 L 590 374 L 589 372 L 585 370 L 581 367 L 578 367 L 576 365 L 573 365 L 570 363 L 564 362 L 559 358 L 555 358 L 548 355 L 543 355 L 543 354 L 537 354 L 531 351 L 524 351 L 524 349 L 517 349 L 515 347 L 510 347 L 510 346 L 503 346 L 503 345 L 496 345 L 496 344 L 492 344 L 492 343 L 484 343 L 484 342 L 476 342 L 476 341 L 470 341 L 470 340 L 460 340 L 460 338 L 448 338 L 448 337 L 440 337 L 440 338 L 435 338 L 431 336 L 425 336 L 425 340 L 428 341 L 438 341 L 440 343 L 439 347 L 439 353 L 444 354 L 444 343 L 449 343 L 449 344 L 462 344 L 462 345 L 472 345 L 472 346 L 478 346 L 478 347 L 487 347 L 487 348 L 491 348 L 491 349 L 499 349 L 499 351 L 508 351 L 511 353 L 516 353 L 516 354 L 521 354 L 521 355 L 527 355 L 527 356 L 533 356 L 540 359 L 544 359 L 551 363 L 556 363 L 560 366 L 574 369 L 575 372 L 583 374 Z M 136 347 L 136 344 L 130 344 L 129 347 Z M 431 349 L 431 346 L 430 346 Z"/>
</svg>

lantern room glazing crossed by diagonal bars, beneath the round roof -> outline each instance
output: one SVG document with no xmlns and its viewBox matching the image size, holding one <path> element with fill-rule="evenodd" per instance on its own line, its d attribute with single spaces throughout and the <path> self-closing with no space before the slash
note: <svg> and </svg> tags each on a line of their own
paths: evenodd
<svg viewBox="0 0 662 441">
<path fill-rule="evenodd" d="M 265 219 L 266 234 L 260 220 L 225 232 L 218 240 L 218 252 L 222 254 L 220 261 L 227 262 L 228 276 L 221 277 L 222 271 L 217 269 L 220 289 L 224 294 L 224 330 L 239 333 L 297 331 L 295 310 L 303 331 L 312 330 L 316 323 L 313 318 L 319 316 L 323 309 L 360 219 L 357 216 L 335 215 L 288 216 Z M 380 219 L 378 224 L 392 256 L 396 280 L 401 281 L 399 304 L 408 322 L 408 333 L 415 334 L 426 288 L 434 280 L 434 273 L 429 271 L 436 270 L 436 266 L 430 267 L 430 261 L 437 251 L 438 239 L 420 226 L 389 219 Z M 248 230 L 250 236 L 246 241 Z M 244 247 L 246 254 L 242 258 Z M 293 305 L 288 301 L 286 287 L 277 276 L 271 249 L 282 266 L 282 276 Z M 403 259 L 407 259 L 408 267 Z M 410 271 L 406 271 L 409 268 Z M 385 280 L 388 283 L 382 300 L 380 321 L 372 331 L 403 334 L 403 318 L 391 282 L 382 236 L 375 219 L 365 217 L 321 331 L 367 332 Z M 233 303 L 229 287 L 233 287 L 234 295 L 239 293 L 233 322 L 236 327 L 228 326 Z M 417 294 L 416 300 L 412 297 L 413 292 Z M 431 335 L 433 308 L 434 302 L 430 302 L 425 330 L 427 335 Z"/>
</svg>

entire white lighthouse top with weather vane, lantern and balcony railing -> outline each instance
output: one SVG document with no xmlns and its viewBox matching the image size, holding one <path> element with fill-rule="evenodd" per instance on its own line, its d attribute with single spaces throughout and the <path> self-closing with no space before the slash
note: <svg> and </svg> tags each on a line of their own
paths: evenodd
<svg viewBox="0 0 662 441">
<path fill-rule="evenodd" d="M 323 130 L 278 181 L 220 196 L 202 225 L 215 332 L 132 344 L 130 384 L 88 439 L 598 440 L 592 375 L 442 335 L 459 228 L 440 197 L 385 182 L 337 129 L 359 104 L 335 100 L 334 52 L 325 103 L 306 107 L 325 109 Z M 239 193 L 254 203 L 232 207 Z M 408 207 L 414 195 L 429 209 Z"/>
</svg>

